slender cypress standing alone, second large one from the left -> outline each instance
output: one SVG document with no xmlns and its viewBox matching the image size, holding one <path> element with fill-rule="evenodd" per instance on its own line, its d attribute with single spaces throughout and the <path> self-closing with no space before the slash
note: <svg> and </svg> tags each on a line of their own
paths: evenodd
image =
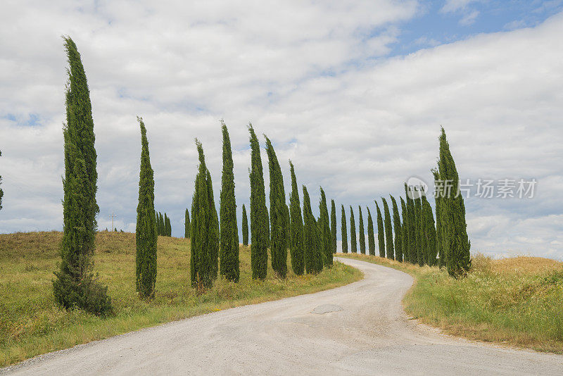
<svg viewBox="0 0 563 376">
<path fill-rule="evenodd" d="M 137 227 L 135 230 L 135 258 L 137 292 L 150 298 L 156 284 L 156 223 L 154 214 L 154 172 L 148 155 L 148 140 L 143 119 L 137 117 L 141 126 L 141 171 L 139 173 L 139 203 L 137 204 Z"/>
</svg>

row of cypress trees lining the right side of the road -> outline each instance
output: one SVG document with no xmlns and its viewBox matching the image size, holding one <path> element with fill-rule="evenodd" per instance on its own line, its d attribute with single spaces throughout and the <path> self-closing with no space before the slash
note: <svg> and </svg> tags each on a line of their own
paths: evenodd
<svg viewBox="0 0 563 376">
<path fill-rule="evenodd" d="M 459 177 L 443 128 L 439 142 L 438 166 L 432 170 L 436 188 L 436 221 L 434 221 L 430 203 L 426 199 L 426 192 L 420 191 L 416 187 L 408 187 L 405 183 L 405 199 L 400 197 L 401 214 L 399 214 L 395 197 L 390 196 L 393 215 L 389 211 L 387 200 L 381 197 L 383 215 L 379 203 L 375 201 L 379 256 L 421 266 L 445 266 L 451 276 L 460 277 L 467 274 L 471 266 L 469 253 L 471 242 L 467 237 L 463 197 L 451 193 L 457 192 Z M 443 182 L 453 184 L 450 192 L 445 192 Z M 362 208 L 358 207 L 358 211 L 360 213 L 360 253 L 365 253 Z M 342 251 L 348 253 L 344 206 L 341 207 L 341 212 Z M 367 208 L 367 213 L 368 248 L 369 254 L 374 255 L 374 228 L 369 208 Z M 352 206 L 350 206 L 350 247 L 353 253 L 357 252 Z"/>
</svg>

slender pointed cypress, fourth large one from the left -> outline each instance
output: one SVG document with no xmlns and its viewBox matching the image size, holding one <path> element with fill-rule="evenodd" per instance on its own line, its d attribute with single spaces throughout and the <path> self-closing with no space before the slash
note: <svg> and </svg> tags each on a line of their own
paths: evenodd
<svg viewBox="0 0 563 376">
<path fill-rule="evenodd" d="M 221 217 L 219 271 L 227 280 L 239 282 L 239 228 L 236 225 L 233 153 L 229 131 L 223 121 L 221 121 L 221 130 L 223 136 L 223 170 L 219 201 Z"/>
</svg>

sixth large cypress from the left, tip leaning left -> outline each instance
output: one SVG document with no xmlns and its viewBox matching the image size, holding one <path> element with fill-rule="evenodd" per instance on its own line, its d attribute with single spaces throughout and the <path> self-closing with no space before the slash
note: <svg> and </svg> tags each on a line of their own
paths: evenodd
<svg viewBox="0 0 563 376">
<path fill-rule="evenodd" d="M 270 170 L 270 223 L 271 240 L 270 253 L 272 253 L 272 269 L 280 278 L 287 275 L 287 236 L 289 232 L 286 194 L 284 190 L 284 175 L 277 160 L 276 151 L 270 139 L 266 139 L 266 153 L 268 156 L 268 169 Z"/>
</svg>

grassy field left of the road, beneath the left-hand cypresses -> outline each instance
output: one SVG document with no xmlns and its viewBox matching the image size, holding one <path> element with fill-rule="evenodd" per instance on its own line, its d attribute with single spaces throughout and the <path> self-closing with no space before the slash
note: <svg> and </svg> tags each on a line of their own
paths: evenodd
<svg viewBox="0 0 563 376">
<path fill-rule="evenodd" d="M 134 291 L 134 234 L 100 232 L 94 271 L 108 285 L 116 314 L 98 318 L 53 303 L 51 280 L 61 259 L 61 237 L 61 232 L 0 234 L 0 366 L 161 322 L 318 292 L 362 278 L 359 270 L 335 263 L 316 276 L 289 272 L 287 280 L 274 277 L 268 265 L 267 279 L 255 281 L 250 249 L 241 246 L 240 282 L 217 280 L 208 292 L 196 295 L 189 287 L 189 242 L 158 237 L 156 296 L 147 302 Z"/>
</svg>

